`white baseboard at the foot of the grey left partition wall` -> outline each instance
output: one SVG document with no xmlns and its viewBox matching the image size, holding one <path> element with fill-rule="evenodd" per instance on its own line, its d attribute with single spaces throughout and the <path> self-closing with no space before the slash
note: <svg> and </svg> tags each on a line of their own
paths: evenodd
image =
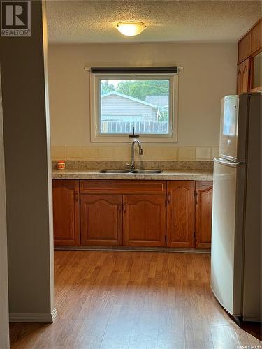
<svg viewBox="0 0 262 349">
<path fill-rule="evenodd" d="M 9 322 L 52 323 L 57 318 L 57 309 L 51 313 L 9 313 Z"/>
</svg>

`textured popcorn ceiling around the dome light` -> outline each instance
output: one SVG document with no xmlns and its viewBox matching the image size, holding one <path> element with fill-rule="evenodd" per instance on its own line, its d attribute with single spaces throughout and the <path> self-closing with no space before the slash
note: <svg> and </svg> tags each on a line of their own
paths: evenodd
<svg viewBox="0 0 262 349">
<path fill-rule="evenodd" d="M 234 42 L 261 17 L 261 1 L 48 0 L 50 43 Z M 121 21 L 145 22 L 127 37 Z"/>
</svg>

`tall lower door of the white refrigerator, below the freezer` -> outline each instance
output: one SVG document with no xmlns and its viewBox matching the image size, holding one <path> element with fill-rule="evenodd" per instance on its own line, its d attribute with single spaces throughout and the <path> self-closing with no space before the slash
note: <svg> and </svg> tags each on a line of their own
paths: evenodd
<svg viewBox="0 0 262 349">
<path fill-rule="evenodd" d="M 211 288 L 235 316 L 241 315 L 242 308 L 244 184 L 245 164 L 214 159 Z"/>
</svg>

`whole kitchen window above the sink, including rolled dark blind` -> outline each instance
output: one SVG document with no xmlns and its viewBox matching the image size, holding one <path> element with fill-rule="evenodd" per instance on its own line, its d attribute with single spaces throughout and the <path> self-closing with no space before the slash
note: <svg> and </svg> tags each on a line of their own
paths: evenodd
<svg viewBox="0 0 262 349">
<path fill-rule="evenodd" d="M 177 142 L 177 67 L 90 68 L 92 142 Z"/>
</svg>

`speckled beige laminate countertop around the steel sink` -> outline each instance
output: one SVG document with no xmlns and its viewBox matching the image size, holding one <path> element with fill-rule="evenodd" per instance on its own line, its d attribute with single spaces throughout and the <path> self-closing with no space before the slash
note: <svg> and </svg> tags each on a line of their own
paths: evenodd
<svg viewBox="0 0 262 349">
<path fill-rule="evenodd" d="M 212 181 L 212 170 L 163 170 L 158 174 L 109 174 L 100 170 L 52 170 L 52 179 L 150 179 L 166 181 Z"/>
</svg>

